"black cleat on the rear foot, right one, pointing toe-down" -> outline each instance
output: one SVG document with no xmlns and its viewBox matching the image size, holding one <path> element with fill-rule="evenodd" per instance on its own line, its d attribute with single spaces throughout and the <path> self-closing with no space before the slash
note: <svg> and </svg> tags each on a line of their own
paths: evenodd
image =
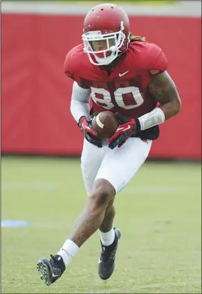
<svg viewBox="0 0 202 294">
<path fill-rule="evenodd" d="M 120 230 L 116 228 L 114 228 L 114 232 L 115 239 L 111 245 L 104 246 L 100 241 L 102 251 L 100 254 L 100 259 L 98 261 L 98 273 L 101 279 L 109 279 L 115 268 L 116 250 L 118 248 L 118 241 L 120 239 L 121 233 Z"/>
</svg>

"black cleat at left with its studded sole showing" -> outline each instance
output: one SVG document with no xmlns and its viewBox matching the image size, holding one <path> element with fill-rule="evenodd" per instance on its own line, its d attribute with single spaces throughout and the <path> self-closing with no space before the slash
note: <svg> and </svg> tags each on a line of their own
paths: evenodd
<svg viewBox="0 0 202 294">
<path fill-rule="evenodd" d="M 37 263 L 37 269 L 42 273 L 41 279 L 44 279 L 47 286 L 55 283 L 65 270 L 65 264 L 60 255 L 50 255 L 50 257 L 50 260 L 39 259 Z"/>
</svg>

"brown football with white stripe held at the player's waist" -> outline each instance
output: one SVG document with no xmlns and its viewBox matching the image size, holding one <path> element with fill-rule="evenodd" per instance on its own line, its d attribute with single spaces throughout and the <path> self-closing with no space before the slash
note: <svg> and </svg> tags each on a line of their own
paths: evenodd
<svg viewBox="0 0 202 294">
<path fill-rule="evenodd" d="M 104 139 L 111 137 L 116 132 L 119 123 L 113 112 L 104 111 L 94 117 L 91 126 L 95 132 L 98 132 L 98 137 Z"/>
</svg>

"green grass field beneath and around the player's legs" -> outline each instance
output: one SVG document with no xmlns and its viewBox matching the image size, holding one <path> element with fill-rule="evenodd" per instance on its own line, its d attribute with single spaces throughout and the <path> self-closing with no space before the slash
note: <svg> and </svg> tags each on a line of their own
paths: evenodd
<svg viewBox="0 0 202 294">
<path fill-rule="evenodd" d="M 116 199 L 122 230 L 111 279 L 98 277 L 98 232 L 47 287 L 39 257 L 55 254 L 84 207 L 79 159 L 3 157 L 2 293 L 201 293 L 201 166 L 147 162 Z"/>
</svg>

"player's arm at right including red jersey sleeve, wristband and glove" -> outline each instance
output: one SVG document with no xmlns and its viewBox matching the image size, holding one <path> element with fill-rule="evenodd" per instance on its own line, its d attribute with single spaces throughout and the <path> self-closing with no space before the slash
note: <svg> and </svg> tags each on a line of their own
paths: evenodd
<svg viewBox="0 0 202 294">
<path fill-rule="evenodd" d="M 181 99 L 174 81 L 167 74 L 167 58 L 163 51 L 155 44 L 145 45 L 142 60 L 144 72 L 147 71 L 152 80 L 147 86 L 149 93 L 160 103 L 159 107 L 136 119 L 127 119 L 118 115 L 121 128 L 109 138 L 109 148 L 120 147 L 125 141 L 137 132 L 147 130 L 163 123 L 181 111 Z"/>
</svg>

